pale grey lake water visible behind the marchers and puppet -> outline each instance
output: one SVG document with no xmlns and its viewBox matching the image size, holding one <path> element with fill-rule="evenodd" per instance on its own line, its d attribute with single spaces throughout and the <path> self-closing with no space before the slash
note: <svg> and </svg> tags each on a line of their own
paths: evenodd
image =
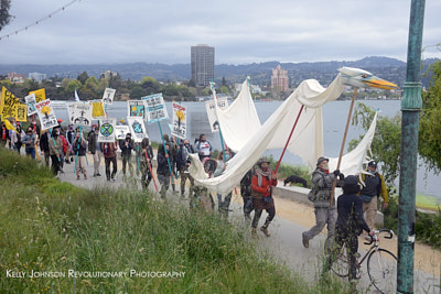
<svg viewBox="0 0 441 294">
<path fill-rule="evenodd" d="M 381 116 L 392 117 L 400 113 L 399 100 L 364 100 L 363 104 L 369 106 L 372 109 L 379 109 Z M 271 102 L 256 102 L 256 109 L 260 118 L 260 122 L 263 123 L 271 113 L 281 105 L 281 101 Z M 212 133 L 208 124 L 208 118 L 205 111 L 205 102 L 182 102 L 186 107 L 187 111 L 187 138 L 191 143 L 194 142 L 195 138 L 198 138 L 201 133 L 206 134 L 207 140 L 214 145 L 215 149 L 220 150 L 220 139 L 218 133 Z M 325 156 L 337 157 L 343 140 L 343 133 L 347 120 L 347 113 L 349 110 L 351 101 L 333 101 L 323 106 L 323 140 Z M 172 113 L 172 104 L 166 102 L 169 115 Z M 66 108 L 55 108 L 57 118 L 67 121 Z M 126 119 L 127 116 L 127 102 L 116 101 L 107 110 L 109 118 Z M 293 118 L 294 120 L 295 118 Z M 161 122 L 161 128 L 164 133 L 170 134 L 168 122 Z M 160 131 L 158 123 L 148 124 L 147 131 L 152 141 L 160 140 Z M 352 139 L 358 138 L 363 131 L 354 126 L 349 127 L 346 146 Z M 273 155 L 275 159 L 279 159 L 281 154 L 280 150 L 267 150 L 265 155 Z M 302 160 L 293 154 L 287 152 L 283 157 L 283 163 L 288 164 L 303 164 Z M 420 162 L 420 165 L 422 163 Z M 441 187 L 438 184 L 441 176 L 437 176 L 432 173 L 426 174 L 424 167 L 419 166 L 417 172 L 417 192 L 435 196 L 441 199 Z M 398 186 L 398 182 L 396 183 Z"/>
</svg>

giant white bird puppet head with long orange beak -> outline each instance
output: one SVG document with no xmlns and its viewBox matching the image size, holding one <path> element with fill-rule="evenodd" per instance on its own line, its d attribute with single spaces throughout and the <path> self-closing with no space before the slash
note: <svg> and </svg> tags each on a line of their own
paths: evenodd
<svg viewBox="0 0 441 294">
<path fill-rule="evenodd" d="M 353 87 L 373 87 L 386 90 L 397 89 L 398 86 L 394 83 L 387 81 L 379 77 L 374 76 L 369 72 L 354 68 L 354 67 L 342 67 L 338 69 L 342 74 L 342 83 Z"/>
</svg>

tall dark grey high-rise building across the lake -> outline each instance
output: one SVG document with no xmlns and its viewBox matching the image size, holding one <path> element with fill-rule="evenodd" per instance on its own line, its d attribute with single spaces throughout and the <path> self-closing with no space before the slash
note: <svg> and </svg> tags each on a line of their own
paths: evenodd
<svg viewBox="0 0 441 294">
<path fill-rule="evenodd" d="M 192 79 L 196 87 L 206 87 L 214 79 L 214 47 L 192 46 Z"/>
</svg>

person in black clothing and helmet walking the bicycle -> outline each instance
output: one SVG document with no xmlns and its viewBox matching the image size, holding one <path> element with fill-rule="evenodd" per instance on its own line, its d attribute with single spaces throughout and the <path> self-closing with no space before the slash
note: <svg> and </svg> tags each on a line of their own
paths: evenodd
<svg viewBox="0 0 441 294">
<path fill-rule="evenodd" d="M 356 279 L 356 253 L 358 251 L 358 236 L 363 230 L 374 232 L 367 226 L 363 217 L 363 200 L 357 195 L 359 192 L 358 177 L 349 175 L 344 179 L 343 194 L 337 199 L 337 220 L 334 230 L 334 244 L 326 248 L 330 252 L 323 269 L 323 273 L 331 270 L 337 252 L 346 244 L 349 258 L 349 282 Z"/>
</svg>

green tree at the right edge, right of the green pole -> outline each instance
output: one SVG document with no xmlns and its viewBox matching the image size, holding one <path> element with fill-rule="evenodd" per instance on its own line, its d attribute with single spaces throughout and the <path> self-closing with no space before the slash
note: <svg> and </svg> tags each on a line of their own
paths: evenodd
<svg viewBox="0 0 441 294">
<path fill-rule="evenodd" d="M 428 91 L 422 92 L 418 152 L 426 163 L 427 171 L 441 172 L 441 62 L 429 70 L 432 81 Z"/>
</svg>

